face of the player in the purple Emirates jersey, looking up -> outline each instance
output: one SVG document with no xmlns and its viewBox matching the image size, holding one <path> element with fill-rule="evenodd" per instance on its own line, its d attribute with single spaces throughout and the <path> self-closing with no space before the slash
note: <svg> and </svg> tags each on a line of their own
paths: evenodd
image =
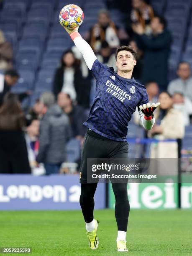
<svg viewBox="0 0 192 256">
<path fill-rule="evenodd" d="M 116 67 L 118 71 L 129 72 L 133 70 L 137 61 L 134 59 L 133 54 L 130 51 L 119 51 L 117 55 Z"/>
</svg>

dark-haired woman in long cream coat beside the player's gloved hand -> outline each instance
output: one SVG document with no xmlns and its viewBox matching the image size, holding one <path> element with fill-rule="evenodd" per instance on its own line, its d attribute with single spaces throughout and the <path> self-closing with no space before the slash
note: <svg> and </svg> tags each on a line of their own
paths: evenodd
<svg viewBox="0 0 192 256">
<path fill-rule="evenodd" d="M 159 111 L 154 112 L 156 123 L 148 132 L 149 136 L 164 140 L 184 137 L 182 113 L 173 108 L 173 100 L 168 92 L 159 95 Z M 177 142 L 159 142 L 151 144 L 151 158 L 178 158 Z M 162 167 L 162 166 L 161 166 Z M 172 167 L 173 168 L 173 167 Z M 176 168 L 177 169 L 177 168 Z"/>
</svg>

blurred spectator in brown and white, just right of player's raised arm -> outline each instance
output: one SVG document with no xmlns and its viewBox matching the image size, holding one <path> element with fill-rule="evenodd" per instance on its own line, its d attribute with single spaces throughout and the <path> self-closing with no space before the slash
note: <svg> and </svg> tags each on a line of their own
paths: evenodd
<svg viewBox="0 0 192 256">
<path fill-rule="evenodd" d="M 107 10 L 100 10 L 98 22 L 92 26 L 85 39 L 90 41 L 92 49 L 97 53 L 100 51 L 102 41 L 107 41 L 111 48 L 116 48 L 120 45 L 117 29 Z"/>
</svg>

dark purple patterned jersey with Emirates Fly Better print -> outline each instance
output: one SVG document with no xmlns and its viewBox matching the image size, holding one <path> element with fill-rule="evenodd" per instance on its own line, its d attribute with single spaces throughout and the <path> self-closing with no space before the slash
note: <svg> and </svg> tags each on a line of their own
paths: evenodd
<svg viewBox="0 0 192 256">
<path fill-rule="evenodd" d="M 149 102 L 146 88 L 135 79 L 120 77 L 112 67 L 94 61 L 96 96 L 89 118 L 83 123 L 95 133 L 126 141 L 128 122 L 136 107 Z"/>
</svg>

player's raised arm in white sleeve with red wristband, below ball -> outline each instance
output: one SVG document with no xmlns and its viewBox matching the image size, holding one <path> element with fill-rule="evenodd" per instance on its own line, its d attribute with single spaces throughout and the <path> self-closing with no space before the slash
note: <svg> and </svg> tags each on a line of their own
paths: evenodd
<svg viewBox="0 0 192 256">
<path fill-rule="evenodd" d="M 77 49 L 82 54 L 87 64 L 87 67 L 91 70 L 94 61 L 97 59 L 91 46 L 87 44 L 87 42 L 81 37 L 81 35 L 78 32 L 78 28 L 65 28 L 65 30 L 74 41 L 74 44 L 77 46 Z"/>
</svg>

